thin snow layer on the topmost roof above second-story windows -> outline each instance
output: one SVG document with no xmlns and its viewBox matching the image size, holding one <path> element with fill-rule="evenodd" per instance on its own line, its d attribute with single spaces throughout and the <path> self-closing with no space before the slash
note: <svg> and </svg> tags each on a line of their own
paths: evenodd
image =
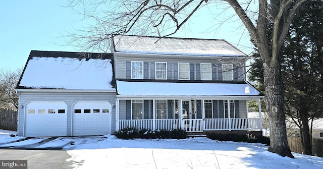
<svg viewBox="0 0 323 169">
<path fill-rule="evenodd" d="M 246 54 L 225 40 L 116 35 L 115 51 L 131 53 L 182 54 L 244 57 Z"/>
</svg>

